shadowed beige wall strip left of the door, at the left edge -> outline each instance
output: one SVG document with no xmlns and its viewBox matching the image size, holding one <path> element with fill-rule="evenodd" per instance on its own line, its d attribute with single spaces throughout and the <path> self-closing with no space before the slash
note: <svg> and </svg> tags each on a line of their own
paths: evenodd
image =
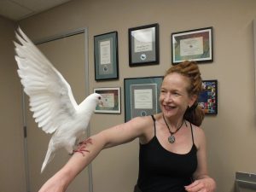
<svg viewBox="0 0 256 192">
<path fill-rule="evenodd" d="M 0 17 L 0 191 L 25 191 L 21 85 L 14 59 L 15 23 Z"/>
</svg>

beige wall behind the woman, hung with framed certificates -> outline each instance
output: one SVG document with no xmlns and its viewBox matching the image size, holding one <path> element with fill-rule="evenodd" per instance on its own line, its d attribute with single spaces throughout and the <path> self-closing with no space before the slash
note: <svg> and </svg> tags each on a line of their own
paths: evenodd
<svg viewBox="0 0 256 192">
<path fill-rule="evenodd" d="M 202 128 L 207 135 L 209 172 L 218 183 L 217 191 L 231 192 L 236 171 L 256 172 L 253 64 L 255 18 L 254 0 L 73 0 L 43 14 L 21 20 L 19 25 L 34 40 L 87 26 L 90 91 L 94 87 L 120 86 L 122 93 L 124 78 L 162 75 L 171 66 L 172 32 L 213 26 L 214 61 L 201 64 L 200 68 L 203 79 L 218 79 L 218 115 L 207 116 Z M 129 67 L 128 28 L 152 23 L 160 24 L 160 65 Z M 11 27 L 9 29 L 12 30 Z M 96 82 L 93 36 L 112 31 L 119 32 L 119 80 Z M 9 50 L 10 53 L 12 50 Z M 13 62 L 10 63 L 13 65 Z M 15 73 L 14 66 L 4 70 Z M 14 81 L 15 77 L 11 77 Z M 15 86 L 19 87 L 16 81 Z M 124 111 L 122 96 L 122 113 L 95 114 L 91 120 L 92 133 L 124 122 Z M 13 138 L 10 135 L 9 141 Z M 131 191 L 137 180 L 137 142 L 103 151 L 93 163 L 93 179 L 96 192 Z"/>
</svg>

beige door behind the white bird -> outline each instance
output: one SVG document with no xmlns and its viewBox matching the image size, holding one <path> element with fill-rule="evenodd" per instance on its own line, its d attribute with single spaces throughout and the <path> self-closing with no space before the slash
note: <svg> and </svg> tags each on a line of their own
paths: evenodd
<svg viewBox="0 0 256 192">
<path fill-rule="evenodd" d="M 63 75 L 67 82 L 71 85 L 75 100 L 82 102 L 88 94 L 88 72 L 86 71 L 84 32 L 57 38 L 38 44 L 38 48 L 51 61 L 57 70 Z M 27 127 L 27 168 L 30 191 L 38 191 L 46 180 L 55 174 L 62 166 L 65 165 L 70 155 L 65 149 L 61 149 L 55 153 L 55 158 L 49 162 L 41 174 L 41 166 L 48 148 L 50 134 L 38 128 L 38 125 L 32 119 L 32 113 L 28 110 L 26 96 L 26 127 Z M 72 127 L 70 127 L 72 129 Z M 87 136 L 84 136 L 87 137 Z M 87 168 L 81 172 L 73 183 L 68 187 L 69 192 L 87 192 L 89 191 L 89 173 Z"/>
</svg>

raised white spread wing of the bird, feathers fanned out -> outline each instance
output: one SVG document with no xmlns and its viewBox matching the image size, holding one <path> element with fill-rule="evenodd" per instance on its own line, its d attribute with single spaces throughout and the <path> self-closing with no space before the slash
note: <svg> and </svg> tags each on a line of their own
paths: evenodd
<svg viewBox="0 0 256 192">
<path fill-rule="evenodd" d="M 72 90 L 50 61 L 18 29 L 15 60 L 24 91 L 29 96 L 33 118 L 45 132 L 52 133 L 65 120 L 72 118 L 76 108 Z"/>
</svg>

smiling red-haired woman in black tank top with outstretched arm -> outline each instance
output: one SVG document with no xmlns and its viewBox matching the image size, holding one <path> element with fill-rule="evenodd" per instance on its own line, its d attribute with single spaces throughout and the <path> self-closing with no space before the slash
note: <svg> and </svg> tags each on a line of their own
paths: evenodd
<svg viewBox="0 0 256 192">
<path fill-rule="evenodd" d="M 161 113 L 137 117 L 99 132 L 81 143 L 73 157 L 39 192 L 62 192 L 103 148 L 128 143 L 139 137 L 139 176 L 135 191 L 212 192 L 214 180 L 207 175 L 204 118 L 197 98 L 201 73 L 195 62 L 171 67 L 160 89 Z"/>
</svg>

